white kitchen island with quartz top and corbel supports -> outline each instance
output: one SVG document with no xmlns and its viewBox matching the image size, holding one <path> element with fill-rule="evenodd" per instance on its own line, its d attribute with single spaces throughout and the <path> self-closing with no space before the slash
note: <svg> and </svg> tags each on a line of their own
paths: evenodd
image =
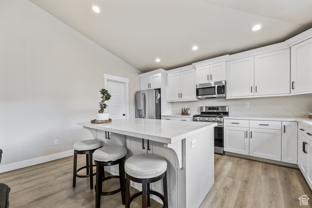
<svg viewBox="0 0 312 208">
<path fill-rule="evenodd" d="M 216 123 L 129 118 L 77 125 L 102 140 L 103 146 L 125 146 L 127 158 L 141 153 L 165 157 L 170 208 L 198 207 L 214 183 L 213 127 Z M 107 171 L 116 174 L 118 168 Z M 162 194 L 162 182 L 158 182 L 151 184 L 151 189 Z M 141 190 L 139 184 L 131 185 Z M 157 196 L 152 197 L 160 202 Z"/>
</svg>

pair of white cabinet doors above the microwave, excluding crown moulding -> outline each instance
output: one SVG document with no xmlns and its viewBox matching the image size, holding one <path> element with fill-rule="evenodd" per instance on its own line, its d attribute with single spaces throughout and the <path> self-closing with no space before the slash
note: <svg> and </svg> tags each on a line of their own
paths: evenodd
<svg viewBox="0 0 312 208">
<path fill-rule="evenodd" d="M 225 61 L 196 67 L 196 84 L 226 80 Z"/>
</svg>

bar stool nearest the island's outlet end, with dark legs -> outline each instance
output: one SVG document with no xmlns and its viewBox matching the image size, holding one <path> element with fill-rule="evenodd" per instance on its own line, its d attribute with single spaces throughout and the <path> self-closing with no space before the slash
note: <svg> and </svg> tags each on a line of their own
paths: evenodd
<svg viewBox="0 0 312 208">
<path fill-rule="evenodd" d="M 134 198 L 142 195 L 142 208 L 150 206 L 150 194 L 158 196 L 163 201 L 163 208 L 168 208 L 167 193 L 167 160 L 159 155 L 139 154 L 129 157 L 124 164 L 126 171 L 126 208 L 130 207 Z M 150 183 L 163 179 L 163 196 L 151 191 Z M 130 198 L 130 180 L 142 183 L 142 191 Z"/>
</svg>

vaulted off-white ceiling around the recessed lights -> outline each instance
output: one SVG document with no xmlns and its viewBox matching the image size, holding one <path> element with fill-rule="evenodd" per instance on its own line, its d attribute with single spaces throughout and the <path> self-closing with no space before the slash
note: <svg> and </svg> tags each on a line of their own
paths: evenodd
<svg viewBox="0 0 312 208">
<path fill-rule="evenodd" d="M 283 42 L 312 27 L 311 0 L 29 1 L 142 72 Z"/>
</svg>

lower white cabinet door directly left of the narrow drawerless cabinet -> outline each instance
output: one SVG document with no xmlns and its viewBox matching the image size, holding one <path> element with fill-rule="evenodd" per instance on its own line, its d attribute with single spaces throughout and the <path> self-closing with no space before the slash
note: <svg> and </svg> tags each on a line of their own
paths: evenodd
<svg viewBox="0 0 312 208">
<path fill-rule="evenodd" d="M 250 128 L 249 155 L 281 161 L 281 131 Z"/>
</svg>

